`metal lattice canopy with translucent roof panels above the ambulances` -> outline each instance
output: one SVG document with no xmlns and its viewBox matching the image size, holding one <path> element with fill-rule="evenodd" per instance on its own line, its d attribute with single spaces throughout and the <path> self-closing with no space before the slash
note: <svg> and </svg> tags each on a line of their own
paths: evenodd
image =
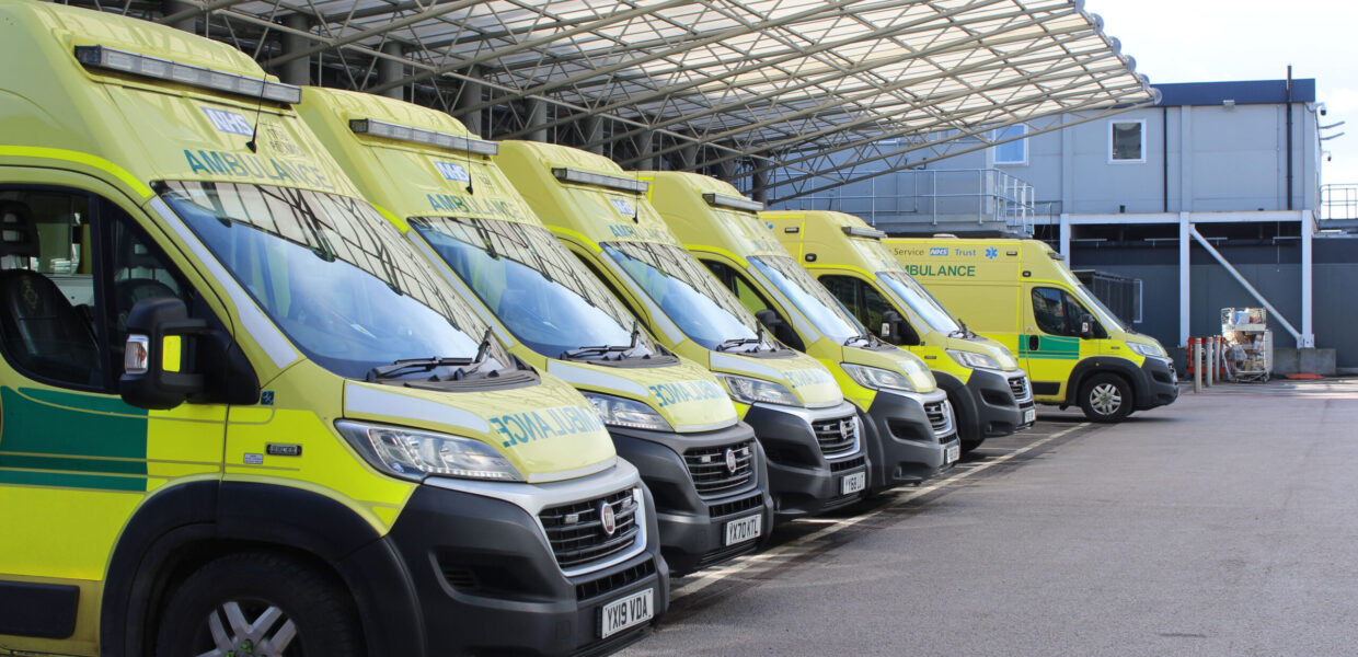
<svg viewBox="0 0 1358 657">
<path fill-rule="evenodd" d="M 76 1 L 228 41 L 285 81 L 774 202 L 1154 94 L 1081 0 Z"/>
</svg>

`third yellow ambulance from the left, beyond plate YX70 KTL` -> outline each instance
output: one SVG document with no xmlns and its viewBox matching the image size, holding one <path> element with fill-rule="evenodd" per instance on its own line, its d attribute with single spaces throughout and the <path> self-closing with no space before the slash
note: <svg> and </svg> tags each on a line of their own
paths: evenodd
<svg viewBox="0 0 1358 657">
<path fill-rule="evenodd" d="M 532 141 L 501 143 L 497 162 L 547 228 L 665 349 L 717 375 L 767 455 L 777 517 L 864 497 L 861 425 L 834 376 L 767 335 L 684 251 L 646 201 L 645 182 L 607 157 Z"/>
</svg>

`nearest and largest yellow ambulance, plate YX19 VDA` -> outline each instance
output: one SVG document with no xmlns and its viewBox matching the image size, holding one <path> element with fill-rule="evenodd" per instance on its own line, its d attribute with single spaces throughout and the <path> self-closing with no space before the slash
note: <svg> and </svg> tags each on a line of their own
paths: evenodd
<svg viewBox="0 0 1358 657">
<path fill-rule="evenodd" d="M 668 576 L 519 364 L 246 54 L 0 1 L 0 653 L 570 654 Z"/>
</svg>

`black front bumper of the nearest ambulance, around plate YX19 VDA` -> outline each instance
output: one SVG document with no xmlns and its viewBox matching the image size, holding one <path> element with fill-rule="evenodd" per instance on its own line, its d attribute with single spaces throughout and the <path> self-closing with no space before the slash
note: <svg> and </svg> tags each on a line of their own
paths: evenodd
<svg viewBox="0 0 1358 657">
<path fill-rule="evenodd" d="M 653 538 L 649 494 L 644 509 L 645 536 Z M 376 588 L 388 588 L 397 600 L 414 592 L 418 607 L 407 612 L 422 618 L 429 656 L 611 652 L 637 639 L 669 600 L 669 574 L 656 540 L 648 539 L 626 561 L 568 577 L 534 516 L 508 501 L 460 490 L 420 486 L 391 532 L 372 547 L 403 562 L 406 581 Z M 602 638 L 602 608 L 646 589 L 655 619 Z M 372 607 L 401 614 L 380 601 Z"/>
</svg>

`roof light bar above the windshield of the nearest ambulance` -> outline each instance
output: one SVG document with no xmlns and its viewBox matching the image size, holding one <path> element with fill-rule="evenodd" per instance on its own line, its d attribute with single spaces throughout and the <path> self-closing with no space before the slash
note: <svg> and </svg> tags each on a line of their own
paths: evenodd
<svg viewBox="0 0 1358 657">
<path fill-rule="evenodd" d="M 301 87 L 246 77 L 225 71 L 181 64 L 147 54 L 129 53 L 107 46 L 76 46 L 76 61 L 87 68 L 103 68 L 120 73 L 152 77 L 190 87 L 201 87 L 224 94 L 249 98 L 265 98 L 278 103 L 296 105 L 301 102 Z"/>
</svg>

